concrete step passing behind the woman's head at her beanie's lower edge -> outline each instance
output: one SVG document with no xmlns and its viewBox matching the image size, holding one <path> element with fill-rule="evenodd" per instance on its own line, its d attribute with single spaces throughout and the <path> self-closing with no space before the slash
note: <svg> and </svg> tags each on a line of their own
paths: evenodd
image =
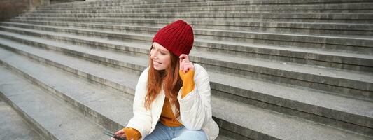
<svg viewBox="0 0 373 140">
<path fill-rule="evenodd" d="M 7 29 L 9 28 L 7 27 Z M 115 51 L 119 48 L 125 48 L 120 51 L 134 52 L 141 55 L 147 54 L 149 51 L 147 43 L 135 43 L 136 47 L 134 47 L 134 44 L 132 44 L 134 43 L 133 40 L 130 40 L 128 43 L 123 41 L 113 41 L 115 43 L 112 43 L 102 38 L 73 36 L 71 34 L 56 35 L 52 32 L 35 31 L 32 29 L 22 29 L 22 31 L 13 29 L 5 31 L 39 36 L 41 38 L 51 38 L 55 41 L 93 45 L 94 48 L 113 48 Z M 125 47 L 123 47 L 123 45 L 125 45 Z M 247 59 L 237 55 L 223 55 L 218 52 L 206 52 L 202 50 L 191 53 L 190 55 L 192 61 L 206 64 L 206 66 L 209 66 L 211 69 L 225 71 L 227 73 L 237 73 L 244 77 L 261 78 L 279 83 L 310 87 L 317 90 L 325 90 L 344 96 L 372 101 L 372 73 L 358 73 L 314 66 L 269 62 L 262 59 Z M 104 62 L 106 62 L 106 60 L 104 60 Z M 136 66 L 134 66 L 134 68 L 137 69 Z M 312 84 L 310 84 L 310 82 Z"/>
</svg>

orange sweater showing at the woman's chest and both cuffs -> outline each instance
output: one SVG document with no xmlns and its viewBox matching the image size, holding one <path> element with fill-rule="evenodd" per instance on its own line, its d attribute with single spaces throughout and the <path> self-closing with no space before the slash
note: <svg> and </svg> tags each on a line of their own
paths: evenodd
<svg viewBox="0 0 373 140">
<path fill-rule="evenodd" d="M 195 88 L 195 71 L 190 70 L 186 73 L 183 73 L 183 71 L 178 71 L 178 73 L 181 80 L 183 80 L 183 87 L 181 87 L 181 98 L 183 98 Z M 168 98 L 164 99 L 160 122 L 169 127 L 178 127 L 182 125 L 178 122 L 178 120 L 176 120 L 176 116 L 172 112 L 171 104 Z M 127 139 L 137 140 L 141 138 L 140 132 L 134 128 L 125 127 L 123 128 L 123 131 L 125 132 Z"/>
</svg>

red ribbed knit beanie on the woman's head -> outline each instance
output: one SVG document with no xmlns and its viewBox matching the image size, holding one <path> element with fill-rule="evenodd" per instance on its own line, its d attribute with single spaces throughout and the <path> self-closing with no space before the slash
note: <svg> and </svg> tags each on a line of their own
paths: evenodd
<svg viewBox="0 0 373 140">
<path fill-rule="evenodd" d="M 194 42 L 193 29 L 183 20 L 177 20 L 160 29 L 153 42 L 159 43 L 178 57 L 181 54 L 189 55 Z"/>
</svg>

